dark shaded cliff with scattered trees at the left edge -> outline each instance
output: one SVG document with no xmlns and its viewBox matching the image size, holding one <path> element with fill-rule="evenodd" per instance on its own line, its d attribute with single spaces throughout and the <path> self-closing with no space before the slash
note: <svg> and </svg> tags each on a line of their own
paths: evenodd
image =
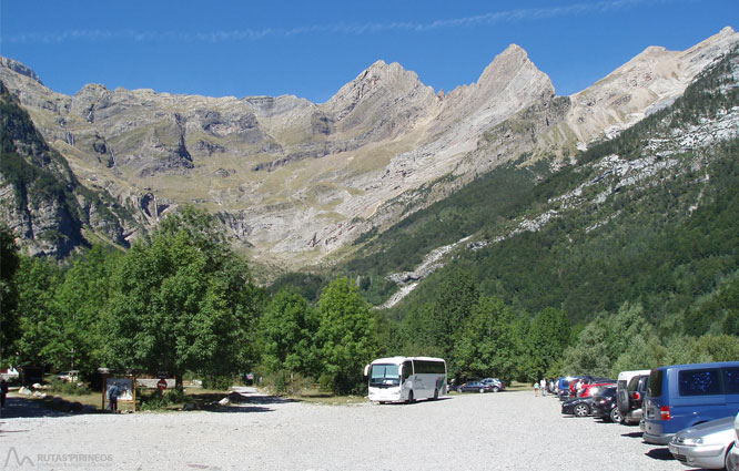
<svg viewBox="0 0 739 471">
<path fill-rule="evenodd" d="M 0 82 L 0 218 L 32 256 L 63 258 L 90 245 L 83 232 L 119 245 L 125 211 L 83 187 Z M 118 213 L 118 214 L 117 214 Z M 131 221 L 128 221 L 131 222 Z"/>
</svg>

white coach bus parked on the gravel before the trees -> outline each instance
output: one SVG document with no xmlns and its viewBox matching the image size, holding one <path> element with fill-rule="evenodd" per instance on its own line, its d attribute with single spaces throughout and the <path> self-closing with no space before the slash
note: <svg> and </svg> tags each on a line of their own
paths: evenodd
<svg viewBox="0 0 739 471">
<path fill-rule="evenodd" d="M 446 361 L 431 357 L 378 358 L 364 367 L 370 400 L 413 402 L 446 395 Z"/>
</svg>

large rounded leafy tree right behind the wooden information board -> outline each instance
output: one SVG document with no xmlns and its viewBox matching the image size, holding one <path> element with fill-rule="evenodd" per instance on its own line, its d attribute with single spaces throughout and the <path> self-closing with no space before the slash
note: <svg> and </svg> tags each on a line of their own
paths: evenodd
<svg viewBox="0 0 739 471">
<path fill-rule="evenodd" d="M 169 371 L 181 386 L 191 371 L 233 375 L 253 315 L 245 263 L 212 238 L 205 213 L 185 209 L 150 239 L 134 244 L 113 275 L 110 361 Z"/>
</svg>

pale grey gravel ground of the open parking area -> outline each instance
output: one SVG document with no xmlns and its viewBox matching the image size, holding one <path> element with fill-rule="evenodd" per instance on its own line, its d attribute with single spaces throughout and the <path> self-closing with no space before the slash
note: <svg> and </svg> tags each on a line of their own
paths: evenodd
<svg viewBox="0 0 739 471">
<path fill-rule="evenodd" d="M 686 469 L 667 448 L 644 443 L 638 427 L 565 417 L 556 398 L 533 392 L 453 395 L 409 406 L 325 406 L 254 391 L 244 396 L 239 407 L 223 412 L 4 414 L 0 464 L 74 470 Z"/>
</svg>

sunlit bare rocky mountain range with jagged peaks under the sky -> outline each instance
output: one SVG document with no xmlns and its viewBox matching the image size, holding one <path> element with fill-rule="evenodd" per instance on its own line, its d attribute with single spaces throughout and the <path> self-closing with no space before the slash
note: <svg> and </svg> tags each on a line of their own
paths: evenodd
<svg viewBox="0 0 739 471">
<path fill-rule="evenodd" d="M 566 164 L 669 105 L 737 44 L 726 28 L 686 51 L 650 47 L 570 96 L 557 96 L 517 45 L 449 93 L 377 61 L 320 104 L 98 84 L 69 96 L 8 58 L 0 80 L 77 181 L 128 208 L 131 217 L 117 223 L 124 238 L 195 204 L 217 214 L 256 264 L 295 268 L 341 257 L 362 234 L 522 154 Z M 21 227 L 0 199 L 3 219 Z M 33 237 L 26 240 L 33 247 Z"/>
</svg>

